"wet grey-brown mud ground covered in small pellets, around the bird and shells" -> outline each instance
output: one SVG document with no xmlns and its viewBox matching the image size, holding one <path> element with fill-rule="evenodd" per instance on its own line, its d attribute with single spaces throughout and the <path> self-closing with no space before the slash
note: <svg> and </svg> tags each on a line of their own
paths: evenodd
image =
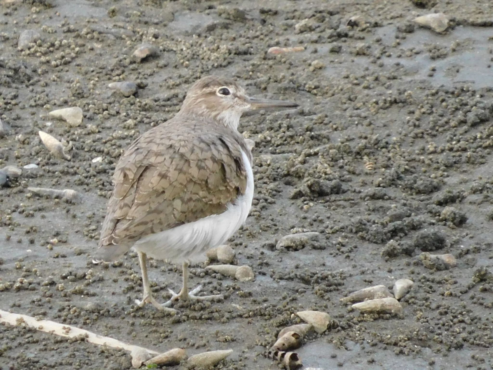
<svg viewBox="0 0 493 370">
<path fill-rule="evenodd" d="M 451 19 L 443 35 L 411 22 L 438 11 Z M 489 0 L 3 0 L 0 168 L 38 167 L 0 189 L 0 309 L 160 352 L 233 349 L 217 366 L 230 370 L 278 369 L 263 356 L 276 334 L 299 322 L 297 311 L 320 310 L 332 322 L 298 350 L 305 367 L 492 369 L 492 25 Z M 39 39 L 20 51 L 25 30 Z M 139 62 L 142 42 L 158 54 Z M 134 304 L 135 254 L 104 266 L 91 253 L 120 153 L 207 74 L 301 108 L 242 119 L 256 192 L 229 244 L 255 280 L 193 266 L 190 285 L 225 299 L 178 304 L 170 317 Z M 110 90 L 113 81 L 135 82 L 137 95 Z M 84 112 L 78 127 L 48 116 L 70 106 Z M 38 130 L 63 139 L 71 160 L 49 154 Z M 74 189 L 82 201 L 38 197 L 31 186 Z M 304 231 L 320 236 L 276 248 Z M 422 252 L 452 254 L 457 266 L 426 267 Z M 175 266 L 152 261 L 149 274 L 159 300 L 179 289 Z M 402 317 L 339 301 L 400 278 L 415 283 Z M 0 326 L 2 370 L 130 366 L 123 351 Z"/>
</svg>

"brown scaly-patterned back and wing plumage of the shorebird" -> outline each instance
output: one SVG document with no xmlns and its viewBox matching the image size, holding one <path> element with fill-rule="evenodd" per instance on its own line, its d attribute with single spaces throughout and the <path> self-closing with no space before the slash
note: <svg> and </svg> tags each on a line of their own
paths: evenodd
<svg viewBox="0 0 493 370">
<path fill-rule="evenodd" d="M 144 133 L 116 165 L 100 239 L 110 254 L 111 246 L 125 246 L 122 254 L 146 235 L 220 214 L 245 193 L 242 150 L 250 161 L 251 153 L 243 137 L 217 124 L 173 121 Z"/>
</svg>

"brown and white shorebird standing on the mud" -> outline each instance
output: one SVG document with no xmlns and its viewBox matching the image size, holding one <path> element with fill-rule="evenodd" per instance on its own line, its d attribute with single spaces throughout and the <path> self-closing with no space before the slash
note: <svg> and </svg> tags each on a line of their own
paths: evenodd
<svg viewBox="0 0 493 370">
<path fill-rule="evenodd" d="M 188 265 L 205 259 L 246 221 L 253 199 L 252 154 L 238 132 L 242 113 L 298 104 L 246 95 L 235 81 L 208 76 L 188 90 L 172 119 L 136 139 L 113 175 L 95 261 L 113 261 L 132 247 L 142 271 L 143 298 L 160 310 L 174 301 L 213 300 L 188 292 Z M 147 276 L 147 256 L 181 263 L 183 286 L 158 303 Z"/>
</svg>

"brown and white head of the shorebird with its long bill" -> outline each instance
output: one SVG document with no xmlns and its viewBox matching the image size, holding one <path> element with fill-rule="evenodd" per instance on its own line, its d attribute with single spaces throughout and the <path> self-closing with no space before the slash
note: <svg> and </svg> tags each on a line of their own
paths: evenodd
<svg viewBox="0 0 493 370">
<path fill-rule="evenodd" d="M 236 130 L 241 115 L 246 111 L 296 107 L 296 103 L 250 97 L 246 95 L 245 89 L 232 79 L 207 76 L 190 87 L 180 113 L 212 117 Z"/>
</svg>

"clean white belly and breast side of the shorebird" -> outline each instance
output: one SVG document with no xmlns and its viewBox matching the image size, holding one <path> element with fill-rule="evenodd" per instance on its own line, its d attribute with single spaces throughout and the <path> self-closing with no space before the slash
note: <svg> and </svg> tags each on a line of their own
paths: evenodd
<svg viewBox="0 0 493 370">
<path fill-rule="evenodd" d="M 204 260 L 207 250 L 224 244 L 245 222 L 253 199 L 253 172 L 246 153 L 242 151 L 242 155 L 246 191 L 228 204 L 225 212 L 148 235 L 139 240 L 134 249 L 155 259 L 181 263 Z"/>
</svg>

